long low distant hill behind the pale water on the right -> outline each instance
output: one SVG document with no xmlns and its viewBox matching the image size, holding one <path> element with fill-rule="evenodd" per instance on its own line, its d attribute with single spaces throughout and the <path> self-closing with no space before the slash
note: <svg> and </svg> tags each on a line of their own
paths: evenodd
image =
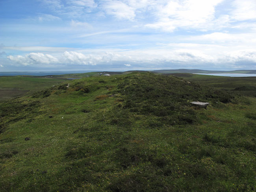
<svg viewBox="0 0 256 192">
<path fill-rule="evenodd" d="M 233 71 L 217 71 L 217 70 L 201 70 L 201 69 L 166 69 L 154 70 L 157 73 L 243 73 L 256 74 L 256 70 L 233 70 Z"/>
</svg>

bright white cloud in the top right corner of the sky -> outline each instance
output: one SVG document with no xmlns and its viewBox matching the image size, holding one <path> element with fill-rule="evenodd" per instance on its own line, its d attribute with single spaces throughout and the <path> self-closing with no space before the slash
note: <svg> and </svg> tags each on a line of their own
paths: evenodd
<svg viewBox="0 0 256 192">
<path fill-rule="evenodd" d="M 234 0 L 232 2 L 234 10 L 231 11 L 234 20 L 256 19 L 256 1 L 255 0 Z"/>
</svg>

